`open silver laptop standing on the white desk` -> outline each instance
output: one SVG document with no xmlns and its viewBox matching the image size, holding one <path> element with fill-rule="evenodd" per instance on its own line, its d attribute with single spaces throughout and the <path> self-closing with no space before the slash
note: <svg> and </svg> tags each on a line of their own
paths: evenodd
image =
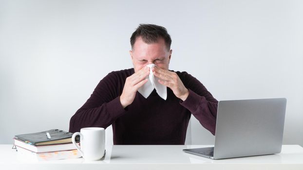
<svg viewBox="0 0 303 170">
<path fill-rule="evenodd" d="M 280 153 L 286 99 L 220 101 L 215 145 L 184 149 L 211 159 Z"/>
</svg>

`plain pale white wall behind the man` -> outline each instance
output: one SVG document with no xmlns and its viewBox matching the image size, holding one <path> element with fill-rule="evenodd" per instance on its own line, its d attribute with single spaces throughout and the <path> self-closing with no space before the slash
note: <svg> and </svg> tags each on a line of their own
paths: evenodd
<svg viewBox="0 0 303 170">
<path fill-rule="evenodd" d="M 0 0 L 0 143 L 58 128 L 113 70 L 139 23 L 166 27 L 170 69 L 217 100 L 287 98 L 284 144 L 303 146 L 302 0 Z M 192 144 L 214 136 L 192 119 Z"/>
</svg>

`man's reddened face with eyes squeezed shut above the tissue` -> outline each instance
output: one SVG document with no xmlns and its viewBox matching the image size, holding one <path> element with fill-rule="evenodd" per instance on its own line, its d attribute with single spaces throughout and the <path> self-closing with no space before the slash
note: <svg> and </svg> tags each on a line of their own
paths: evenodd
<svg viewBox="0 0 303 170">
<path fill-rule="evenodd" d="M 163 38 L 159 38 L 156 43 L 147 44 L 143 42 L 141 36 L 137 37 L 133 51 L 130 51 L 134 71 L 136 72 L 149 64 L 169 69 L 171 52 L 171 50 L 167 50 Z"/>
</svg>

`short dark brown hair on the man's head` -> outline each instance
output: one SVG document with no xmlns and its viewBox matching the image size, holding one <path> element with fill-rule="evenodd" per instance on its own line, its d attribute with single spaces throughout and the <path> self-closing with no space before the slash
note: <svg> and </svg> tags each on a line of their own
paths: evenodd
<svg viewBox="0 0 303 170">
<path fill-rule="evenodd" d="M 166 28 L 153 25 L 153 24 L 139 24 L 138 28 L 133 32 L 131 36 L 131 45 L 136 41 L 136 38 L 141 36 L 145 43 L 155 43 L 159 38 L 163 38 L 168 51 L 170 50 L 171 38 L 170 34 L 167 33 Z"/>
</svg>

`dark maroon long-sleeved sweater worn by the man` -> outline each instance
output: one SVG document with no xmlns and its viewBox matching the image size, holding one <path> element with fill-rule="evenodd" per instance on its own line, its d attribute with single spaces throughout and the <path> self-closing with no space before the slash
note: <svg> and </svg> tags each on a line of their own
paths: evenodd
<svg viewBox="0 0 303 170">
<path fill-rule="evenodd" d="M 136 93 L 132 104 L 123 108 L 120 95 L 134 69 L 113 71 L 96 86 L 93 94 L 70 120 L 72 133 L 83 127 L 113 125 L 115 145 L 184 145 L 191 114 L 215 135 L 218 101 L 204 85 L 187 72 L 176 71 L 189 89 L 183 102 L 167 88 L 167 100 L 155 90 L 145 99 Z"/>
</svg>

